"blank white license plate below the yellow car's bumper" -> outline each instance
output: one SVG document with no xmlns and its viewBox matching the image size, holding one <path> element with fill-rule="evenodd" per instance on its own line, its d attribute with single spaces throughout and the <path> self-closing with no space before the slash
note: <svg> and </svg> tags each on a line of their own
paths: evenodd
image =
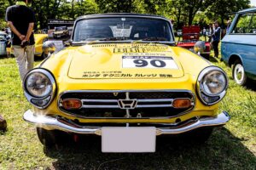
<svg viewBox="0 0 256 170">
<path fill-rule="evenodd" d="M 154 152 L 155 127 L 102 127 L 102 152 Z"/>
</svg>

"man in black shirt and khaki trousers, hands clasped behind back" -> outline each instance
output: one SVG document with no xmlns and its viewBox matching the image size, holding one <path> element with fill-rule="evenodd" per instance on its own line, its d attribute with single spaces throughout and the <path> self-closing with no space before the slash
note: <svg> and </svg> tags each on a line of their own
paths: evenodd
<svg viewBox="0 0 256 170">
<path fill-rule="evenodd" d="M 26 73 L 33 68 L 34 36 L 33 27 L 35 14 L 26 7 L 30 0 L 17 0 L 16 4 L 6 9 L 5 20 L 12 31 L 12 46 L 16 62 L 19 66 L 20 79 L 23 81 Z"/>
</svg>

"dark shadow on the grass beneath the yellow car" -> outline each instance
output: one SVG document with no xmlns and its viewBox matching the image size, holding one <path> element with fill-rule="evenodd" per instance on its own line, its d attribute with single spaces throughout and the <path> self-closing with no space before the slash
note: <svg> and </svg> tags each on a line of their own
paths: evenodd
<svg viewBox="0 0 256 170">
<path fill-rule="evenodd" d="M 87 136 L 61 150 L 44 150 L 59 169 L 253 169 L 253 153 L 226 128 L 213 131 L 207 144 L 192 145 L 175 137 L 158 137 L 155 153 L 104 154 L 100 137 Z"/>
</svg>

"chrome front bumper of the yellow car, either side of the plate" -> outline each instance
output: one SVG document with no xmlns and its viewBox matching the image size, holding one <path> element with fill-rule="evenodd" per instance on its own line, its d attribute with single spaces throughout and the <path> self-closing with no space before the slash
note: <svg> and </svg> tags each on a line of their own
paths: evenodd
<svg viewBox="0 0 256 170">
<path fill-rule="evenodd" d="M 102 127 L 93 126 L 79 126 L 73 122 L 65 119 L 60 119 L 50 116 L 35 116 L 31 110 L 25 112 L 23 119 L 26 122 L 31 122 L 37 127 L 46 129 L 59 129 L 67 133 L 81 133 L 81 134 L 102 134 Z M 230 116 L 227 112 L 223 111 L 216 117 L 203 117 L 188 122 L 180 126 L 174 127 L 156 127 L 156 135 L 160 134 L 177 134 L 185 133 L 199 127 L 217 127 L 223 126 L 226 122 L 230 121 Z"/>
</svg>

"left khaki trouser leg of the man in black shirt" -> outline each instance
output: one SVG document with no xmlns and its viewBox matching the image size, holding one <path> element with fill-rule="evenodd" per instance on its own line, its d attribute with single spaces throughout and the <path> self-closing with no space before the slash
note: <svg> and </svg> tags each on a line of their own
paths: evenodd
<svg viewBox="0 0 256 170">
<path fill-rule="evenodd" d="M 25 50 L 20 46 L 14 46 L 15 59 L 19 67 L 20 79 L 23 81 L 23 78 L 26 75 L 26 58 Z"/>
</svg>

